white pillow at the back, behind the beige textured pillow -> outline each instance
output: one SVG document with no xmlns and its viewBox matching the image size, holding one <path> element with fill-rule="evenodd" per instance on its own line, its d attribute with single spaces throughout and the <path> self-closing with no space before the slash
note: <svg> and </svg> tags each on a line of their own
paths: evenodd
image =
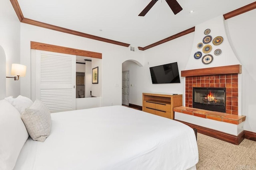
<svg viewBox="0 0 256 170">
<path fill-rule="evenodd" d="M 12 106 L 14 106 L 20 114 L 28 107 L 30 107 L 33 102 L 30 100 L 30 98 L 27 98 L 25 96 L 18 96 L 17 98 L 12 98 L 12 96 L 9 96 L 5 98 Z"/>
</svg>

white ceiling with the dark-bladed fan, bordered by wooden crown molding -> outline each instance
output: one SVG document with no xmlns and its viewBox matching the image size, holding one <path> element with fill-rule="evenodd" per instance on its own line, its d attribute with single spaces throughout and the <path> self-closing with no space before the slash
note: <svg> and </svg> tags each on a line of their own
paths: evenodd
<svg viewBox="0 0 256 170">
<path fill-rule="evenodd" d="M 177 0 L 174 15 L 158 0 L 146 16 L 138 16 L 151 0 L 18 0 L 25 18 L 145 47 L 254 0 Z M 194 10 L 194 13 L 190 13 Z M 102 29 L 102 31 L 100 31 Z"/>
</svg>

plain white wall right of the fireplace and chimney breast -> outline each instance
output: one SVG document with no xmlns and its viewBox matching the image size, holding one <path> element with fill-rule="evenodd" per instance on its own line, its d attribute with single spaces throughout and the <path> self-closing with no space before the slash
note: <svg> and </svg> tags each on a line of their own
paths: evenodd
<svg viewBox="0 0 256 170">
<path fill-rule="evenodd" d="M 246 115 L 244 130 L 256 132 L 256 9 L 226 20 L 227 32 L 242 64 L 242 115 Z"/>
</svg>

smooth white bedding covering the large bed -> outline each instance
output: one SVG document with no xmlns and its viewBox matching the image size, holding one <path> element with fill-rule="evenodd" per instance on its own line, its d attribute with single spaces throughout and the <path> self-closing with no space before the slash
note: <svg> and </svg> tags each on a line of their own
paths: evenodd
<svg viewBox="0 0 256 170">
<path fill-rule="evenodd" d="M 186 170 L 197 162 L 187 125 L 109 106 L 52 113 L 50 136 L 28 138 L 14 170 Z"/>
</svg>

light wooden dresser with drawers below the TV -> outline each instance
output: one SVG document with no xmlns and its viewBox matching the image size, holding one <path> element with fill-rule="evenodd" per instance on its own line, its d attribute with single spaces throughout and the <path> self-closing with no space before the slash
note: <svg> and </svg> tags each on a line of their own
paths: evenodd
<svg viewBox="0 0 256 170">
<path fill-rule="evenodd" d="M 182 106 L 182 94 L 142 93 L 142 111 L 174 119 L 173 107 Z"/>
</svg>

